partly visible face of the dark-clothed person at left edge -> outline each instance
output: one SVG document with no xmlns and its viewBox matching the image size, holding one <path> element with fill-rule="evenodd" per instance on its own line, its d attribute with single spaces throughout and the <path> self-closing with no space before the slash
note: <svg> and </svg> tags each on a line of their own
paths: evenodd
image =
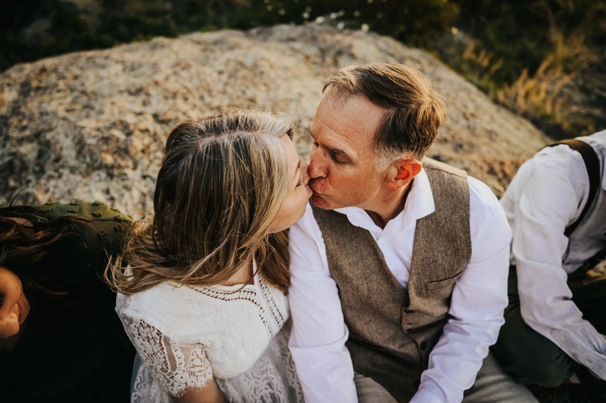
<svg viewBox="0 0 606 403">
<path fill-rule="evenodd" d="M 19 333 L 28 313 L 30 303 L 23 295 L 21 280 L 6 267 L 0 267 L 0 291 L 4 303 L 0 306 L 0 337 L 7 338 Z"/>
</svg>

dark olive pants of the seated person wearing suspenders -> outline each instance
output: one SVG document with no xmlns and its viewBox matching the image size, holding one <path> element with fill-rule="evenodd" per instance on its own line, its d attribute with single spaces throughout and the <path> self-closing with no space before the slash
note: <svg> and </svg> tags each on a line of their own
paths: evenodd
<svg viewBox="0 0 606 403">
<path fill-rule="evenodd" d="M 572 300 L 583 318 L 601 334 L 606 334 L 606 275 L 596 270 L 579 269 L 568 276 Z M 491 347 L 505 371 L 524 384 L 556 387 L 578 371 L 581 383 L 599 396 L 606 396 L 606 381 L 588 373 L 552 341 L 528 326 L 520 312 L 518 275 L 511 266 L 508 280 L 509 305 L 505 308 L 505 324 Z"/>
</svg>

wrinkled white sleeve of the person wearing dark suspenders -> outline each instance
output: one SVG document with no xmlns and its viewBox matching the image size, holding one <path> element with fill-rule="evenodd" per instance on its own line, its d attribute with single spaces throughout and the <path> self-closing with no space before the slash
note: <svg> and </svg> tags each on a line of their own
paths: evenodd
<svg viewBox="0 0 606 403">
<path fill-rule="evenodd" d="M 576 153 L 581 160 L 578 152 L 566 148 L 569 151 L 564 152 Z M 518 270 L 522 318 L 574 361 L 606 379 L 606 340 L 582 319 L 581 311 L 571 301 L 568 275 L 562 268 L 562 256 L 568 247 L 565 228 L 576 219 L 579 206 L 584 206 L 582 198 L 587 195 L 578 192 L 581 186 L 571 180 L 570 169 L 540 161 L 541 157 L 525 167 L 531 172 L 519 189 L 518 203 L 513 205 L 511 252 Z M 582 161 L 574 165 L 581 167 L 588 184 Z M 585 187 L 588 192 L 589 186 Z"/>
</svg>

